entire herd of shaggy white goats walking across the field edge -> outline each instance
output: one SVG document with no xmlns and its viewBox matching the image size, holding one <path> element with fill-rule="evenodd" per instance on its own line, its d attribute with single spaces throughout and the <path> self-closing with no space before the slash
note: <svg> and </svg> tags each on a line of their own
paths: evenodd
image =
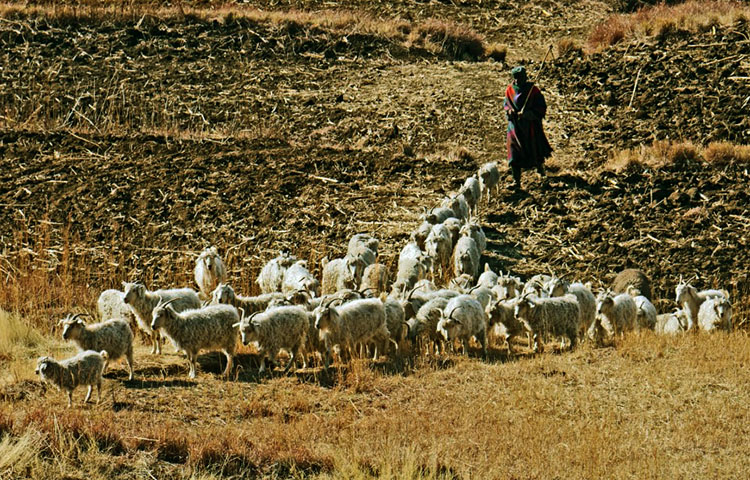
<svg viewBox="0 0 750 480">
<path fill-rule="evenodd" d="M 471 338 L 485 355 L 488 339 L 512 355 L 511 340 L 524 333 L 528 348 L 538 352 L 553 338 L 567 338 L 572 349 L 579 341 L 600 344 L 630 330 L 732 329 L 728 293 L 698 291 L 682 279 L 676 288 L 680 308 L 657 315 L 650 281 L 640 270 L 620 272 L 598 297 L 590 284 L 571 283 L 564 276 L 540 274 L 522 282 L 487 264 L 480 271 L 486 238 L 472 214 L 499 180 L 497 164 L 485 164 L 456 195 L 425 211 L 400 252 L 394 279 L 377 262 L 378 240 L 361 233 L 351 238 L 344 257 L 323 260 L 321 281 L 304 260 L 282 252 L 258 276 L 262 293 L 246 297 L 225 283 L 217 249 L 207 248 L 196 260 L 199 291 L 150 291 L 141 283 L 124 282 L 122 291 L 102 292 L 99 323 L 87 324 L 80 314 L 59 322 L 63 339 L 73 341 L 80 353 L 59 362 L 42 357 L 36 373 L 65 390 L 69 406 L 73 390 L 88 386 L 88 402 L 94 385 L 100 394 L 108 361 L 125 357 L 132 380 L 135 329 L 151 341 L 152 354 L 161 353 L 162 336 L 169 338 L 186 354 L 190 378 L 202 350 L 221 350 L 228 376 L 238 334 L 243 344 L 257 347 L 262 373 L 266 357 L 273 364 L 281 350 L 289 355 L 287 372 L 296 360 L 305 368 L 309 357 L 318 356 L 328 369 L 332 352 L 341 359 L 354 354 L 378 358 L 412 345 L 412 352 L 440 355 L 460 341 L 467 354 Z M 441 288 L 435 282 L 442 278 L 451 280 Z"/>
</svg>

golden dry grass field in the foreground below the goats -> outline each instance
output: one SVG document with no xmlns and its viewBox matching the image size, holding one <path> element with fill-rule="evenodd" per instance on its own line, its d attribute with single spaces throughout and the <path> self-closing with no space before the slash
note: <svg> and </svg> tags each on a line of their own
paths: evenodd
<svg viewBox="0 0 750 480">
<path fill-rule="evenodd" d="M 14 464 L 32 478 L 731 478 L 750 467 L 744 332 L 446 360 L 397 374 L 354 362 L 330 387 L 213 373 L 128 383 L 117 371 L 101 405 L 71 411 L 60 392 L 25 384 L 31 395 L 0 407 L 0 431 L 5 448 L 26 442 Z"/>
</svg>

